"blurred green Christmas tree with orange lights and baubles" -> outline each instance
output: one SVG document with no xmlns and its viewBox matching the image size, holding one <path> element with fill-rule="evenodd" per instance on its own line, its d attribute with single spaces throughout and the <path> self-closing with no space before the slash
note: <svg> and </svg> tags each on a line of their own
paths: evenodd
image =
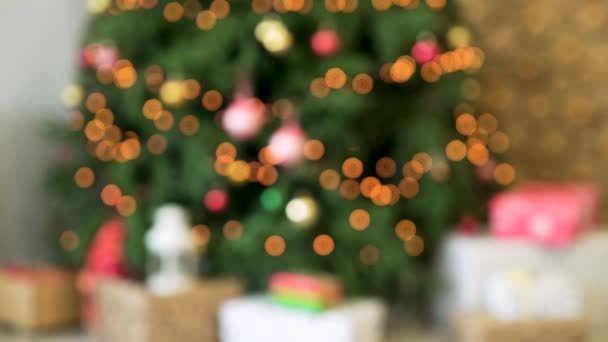
<svg viewBox="0 0 608 342">
<path fill-rule="evenodd" d="M 260 288 L 325 270 L 403 298 L 429 287 L 438 239 L 494 174 L 508 182 L 487 148 L 495 118 L 467 103 L 483 54 L 446 0 L 89 5 L 49 179 L 72 263 L 121 215 L 143 270 L 152 212 L 175 202 L 209 273 Z"/>
</svg>

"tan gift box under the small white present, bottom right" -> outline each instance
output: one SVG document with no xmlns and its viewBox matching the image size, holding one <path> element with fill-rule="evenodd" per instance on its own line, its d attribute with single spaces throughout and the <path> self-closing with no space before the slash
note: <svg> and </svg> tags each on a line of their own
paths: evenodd
<svg viewBox="0 0 608 342">
<path fill-rule="evenodd" d="M 460 314 L 451 323 L 457 342 L 583 342 L 588 336 L 580 319 L 504 322 L 484 314 Z"/>
</svg>

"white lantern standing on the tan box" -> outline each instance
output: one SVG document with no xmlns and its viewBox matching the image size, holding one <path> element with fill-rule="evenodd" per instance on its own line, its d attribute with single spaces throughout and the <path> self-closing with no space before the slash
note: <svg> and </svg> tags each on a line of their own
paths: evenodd
<svg viewBox="0 0 608 342">
<path fill-rule="evenodd" d="M 146 283 L 156 295 L 173 295 L 194 284 L 197 255 L 186 211 L 178 205 L 156 210 L 154 225 L 145 237 L 150 253 Z"/>
</svg>

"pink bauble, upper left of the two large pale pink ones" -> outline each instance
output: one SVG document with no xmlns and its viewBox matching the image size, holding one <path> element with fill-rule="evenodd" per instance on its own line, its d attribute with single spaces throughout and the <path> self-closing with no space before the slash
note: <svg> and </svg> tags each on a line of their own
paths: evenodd
<svg viewBox="0 0 608 342">
<path fill-rule="evenodd" d="M 235 139 L 251 139 L 264 125 L 264 110 L 264 104 L 256 98 L 237 98 L 226 108 L 222 117 L 222 126 Z"/>
</svg>

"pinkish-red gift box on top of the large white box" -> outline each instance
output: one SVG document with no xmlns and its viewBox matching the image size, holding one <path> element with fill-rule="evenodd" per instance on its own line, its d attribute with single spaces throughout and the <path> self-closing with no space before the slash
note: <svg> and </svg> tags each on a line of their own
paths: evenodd
<svg viewBox="0 0 608 342">
<path fill-rule="evenodd" d="M 524 184 L 490 201 L 490 231 L 502 238 L 565 246 L 593 227 L 599 202 L 599 191 L 590 184 Z"/>
</svg>

